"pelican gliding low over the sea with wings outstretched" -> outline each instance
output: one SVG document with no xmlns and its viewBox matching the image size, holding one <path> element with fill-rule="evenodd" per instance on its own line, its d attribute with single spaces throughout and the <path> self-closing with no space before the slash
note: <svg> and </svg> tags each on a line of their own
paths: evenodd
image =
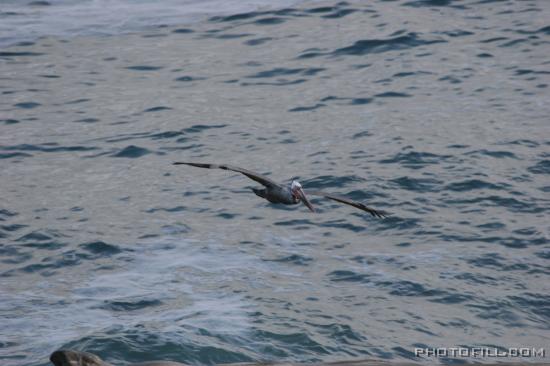
<svg viewBox="0 0 550 366">
<path fill-rule="evenodd" d="M 187 163 L 183 161 L 177 161 L 174 163 L 174 165 L 190 165 L 197 168 L 223 169 L 223 170 L 230 170 L 233 172 L 241 173 L 265 187 L 265 188 L 252 188 L 252 191 L 257 196 L 265 198 L 271 203 L 282 203 L 285 205 L 295 205 L 297 203 L 302 202 L 304 205 L 307 206 L 307 208 L 309 208 L 311 212 L 315 212 L 315 208 L 313 207 L 311 202 L 309 202 L 309 199 L 307 198 L 306 193 L 302 189 L 302 185 L 297 180 L 293 180 L 289 186 L 284 186 L 282 184 L 272 181 L 271 179 L 261 174 L 258 174 L 243 168 L 239 168 L 236 166 L 227 165 L 227 164 Z M 383 211 L 372 209 L 360 202 L 355 202 L 345 197 L 336 196 L 333 194 L 319 192 L 319 191 L 308 191 L 307 193 L 312 196 L 323 196 L 325 198 L 329 198 L 331 200 L 356 207 L 360 210 L 368 212 L 374 217 L 384 218 L 388 215 Z"/>
</svg>

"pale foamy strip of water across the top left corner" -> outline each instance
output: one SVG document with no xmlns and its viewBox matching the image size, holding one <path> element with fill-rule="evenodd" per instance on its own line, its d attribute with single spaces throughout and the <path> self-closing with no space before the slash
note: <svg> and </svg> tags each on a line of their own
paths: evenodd
<svg viewBox="0 0 550 366">
<path fill-rule="evenodd" d="M 181 25 L 209 15 L 281 8 L 303 0 L 2 0 L 0 47 L 44 36 L 75 37 L 138 32 Z M 313 2 L 312 2 L 313 3 Z"/>
</svg>

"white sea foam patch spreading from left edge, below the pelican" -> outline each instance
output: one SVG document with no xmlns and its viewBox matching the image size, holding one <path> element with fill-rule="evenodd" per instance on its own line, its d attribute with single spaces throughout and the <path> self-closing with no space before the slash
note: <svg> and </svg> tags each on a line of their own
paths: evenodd
<svg viewBox="0 0 550 366">
<path fill-rule="evenodd" d="M 46 358 L 85 337 L 143 326 L 177 341 L 203 330 L 243 337 L 252 329 L 253 306 L 231 285 L 251 273 L 269 271 L 255 257 L 222 242 L 167 237 L 136 244 L 127 258 L 112 270 L 89 272 L 87 279 L 63 280 L 70 288 L 60 293 L 55 286 L 46 286 L 47 293 L 19 295 L 0 289 L 0 295 L 6 295 L 0 311 L 19 308 L 25 314 L 3 319 L 3 329 L 16 335 L 10 341 L 18 345 L 11 351 Z M 151 304 L 142 306 L 143 301 Z M 36 334 L 48 336 L 37 344 Z"/>
</svg>

